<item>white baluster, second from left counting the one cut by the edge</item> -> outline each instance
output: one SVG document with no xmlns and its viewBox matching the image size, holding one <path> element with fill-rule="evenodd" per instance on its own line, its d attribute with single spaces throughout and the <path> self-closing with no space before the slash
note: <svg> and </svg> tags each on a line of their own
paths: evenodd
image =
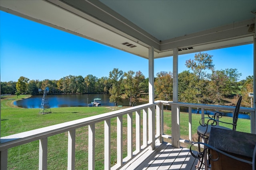
<svg viewBox="0 0 256 170">
<path fill-rule="evenodd" d="M 47 143 L 47 138 L 39 140 L 39 170 L 47 170 Z"/>
</svg>

